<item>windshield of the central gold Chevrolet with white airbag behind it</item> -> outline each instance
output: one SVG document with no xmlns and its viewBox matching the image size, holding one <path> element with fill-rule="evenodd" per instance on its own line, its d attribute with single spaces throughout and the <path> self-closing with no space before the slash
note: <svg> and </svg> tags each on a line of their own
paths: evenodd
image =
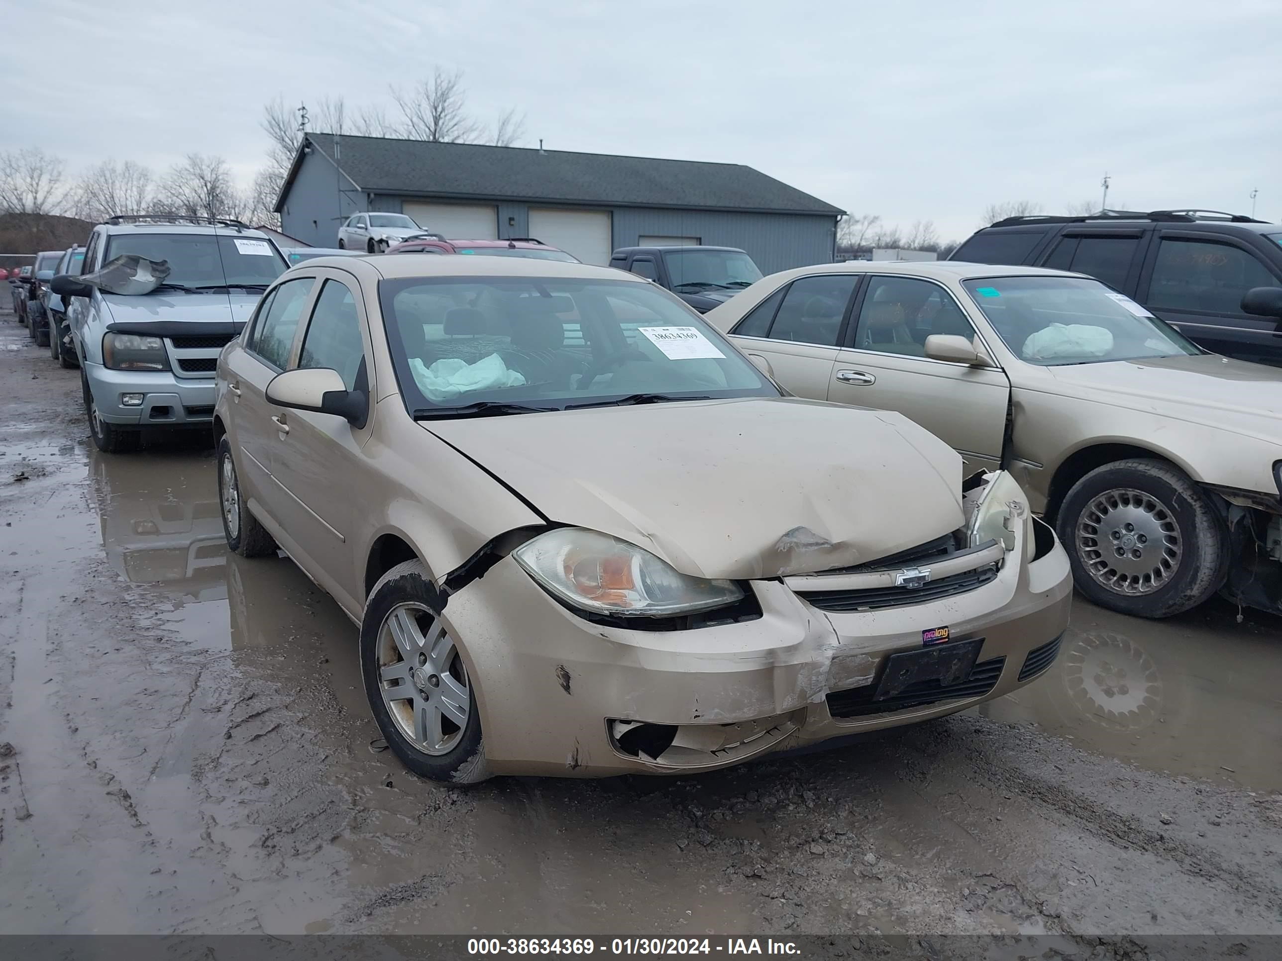
<svg viewBox="0 0 1282 961">
<path fill-rule="evenodd" d="M 697 314 L 650 284 L 415 277 L 382 281 L 378 290 L 412 413 L 449 414 L 482 401 L 546 410 L 778 396 Z"/>
</svg>

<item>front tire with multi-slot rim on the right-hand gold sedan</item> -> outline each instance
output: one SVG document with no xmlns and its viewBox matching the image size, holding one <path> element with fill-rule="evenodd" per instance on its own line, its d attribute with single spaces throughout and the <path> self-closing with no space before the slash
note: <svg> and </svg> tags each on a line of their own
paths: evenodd
<svg viewBox="0 0 1282 961">
<path fill-rule="evenodd" d="M 1096 468 L 1069 489 L 1056 527 L 1077 588 L 1122 614 L 1181 614 L 1228 577 L 1223 518 L 1187 474 L 1164 460 Z"/>
</svg>

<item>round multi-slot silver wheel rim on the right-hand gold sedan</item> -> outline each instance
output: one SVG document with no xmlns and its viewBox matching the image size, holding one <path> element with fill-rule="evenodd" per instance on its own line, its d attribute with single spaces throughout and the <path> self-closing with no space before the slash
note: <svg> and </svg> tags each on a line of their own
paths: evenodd
<svg viewBox="0 0 1282 961">
<path fill-rule="evenodd" d="M 1105 491 L 1077 519 L 1077 555 L 1101 587 L 1120 595 L 1149 595 L 1179 569 L 1183 538 L 1176 516 L 1153 495 L 1131 488 Z"/>
</svg>

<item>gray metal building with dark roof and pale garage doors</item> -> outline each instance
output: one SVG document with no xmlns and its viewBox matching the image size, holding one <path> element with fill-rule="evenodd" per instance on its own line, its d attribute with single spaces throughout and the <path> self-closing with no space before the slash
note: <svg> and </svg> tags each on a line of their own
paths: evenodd
<svg viewBox="0 0 1282 961">
<path fill-rule="evenodd" d="M 281 229 L 332 247 L 355 213 L 404 213 L 446 237 L 537 237 L 590 264 L 617 247 L 746 250 L 765 273 L 835 259 L 831 204 L 741 164 L 308 133 Z"/>
</svg>

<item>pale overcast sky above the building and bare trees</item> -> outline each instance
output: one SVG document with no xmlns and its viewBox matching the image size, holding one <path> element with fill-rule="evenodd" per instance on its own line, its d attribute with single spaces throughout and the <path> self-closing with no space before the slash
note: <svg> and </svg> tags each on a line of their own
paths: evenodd
<svg viewBox="0 0 1282 961">
<path fill-rule="evenodd" d="M 40 0 L 6 5 L 0 149 L 72 170 L 219 154 L 264 101 L 463 69 L 520 145 L 747 164 L 853 213 L 964 237 L 994 201 L 1282 219 L 1282 3 Z M 24 38 L 24 40 L 19 40 Z"/>
</svg>

